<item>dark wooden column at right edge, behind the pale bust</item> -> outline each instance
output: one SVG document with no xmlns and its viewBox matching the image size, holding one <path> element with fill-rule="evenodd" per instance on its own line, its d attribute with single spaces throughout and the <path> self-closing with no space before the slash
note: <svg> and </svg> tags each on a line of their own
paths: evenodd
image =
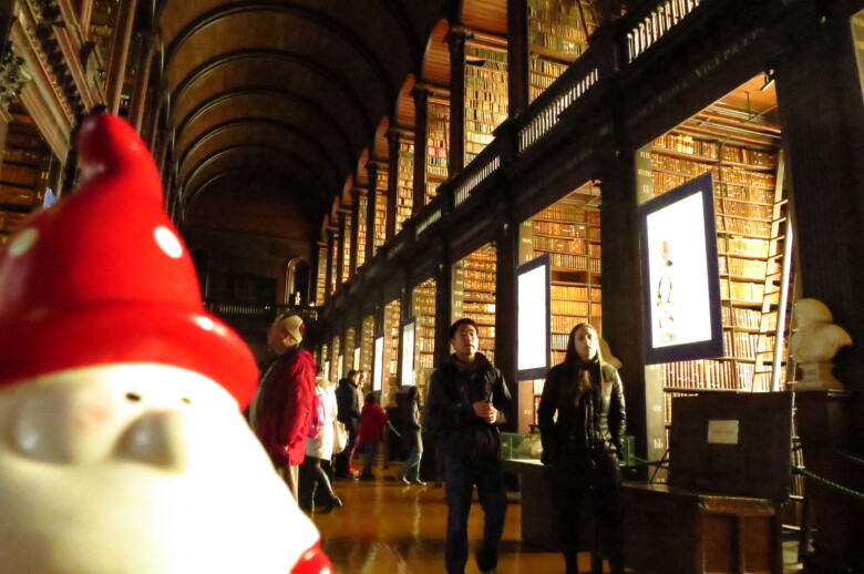
<svg viewBox="0 0 864 574">
<path fill-rule="evenodd" d="M 850 390 L 864 391 L 860 71 L 847 16 L 812 25 L 811 41 L 786 51 L 775 69 L 802 296 L 827 305 L 834 322 L 852 336 L 856 345 L 840 351 L 834 375 Z"/>
</svg>

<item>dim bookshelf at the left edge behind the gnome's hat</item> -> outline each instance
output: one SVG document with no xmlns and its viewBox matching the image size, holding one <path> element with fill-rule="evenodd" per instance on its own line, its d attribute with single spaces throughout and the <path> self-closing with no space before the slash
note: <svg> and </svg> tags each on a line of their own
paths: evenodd
<svg viewBox="0 0 864 574">
<path fill-rule="evenodd" d="M 0 245 L 42 205 L 52 154 L 20 105 L 10 106 L 3 163 L 0 166 Z"/>
</svg>

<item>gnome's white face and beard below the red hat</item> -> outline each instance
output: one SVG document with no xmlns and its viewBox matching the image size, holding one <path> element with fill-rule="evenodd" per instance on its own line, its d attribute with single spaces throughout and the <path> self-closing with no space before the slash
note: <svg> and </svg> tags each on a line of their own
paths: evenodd
<svg viewBox="0 0 864 574">
<path fill-rule="evenodd" d="M 317 541 L 210 379 L 136 363 L 0 390 L 0 574 L 286 574 Z"/>
</svg>

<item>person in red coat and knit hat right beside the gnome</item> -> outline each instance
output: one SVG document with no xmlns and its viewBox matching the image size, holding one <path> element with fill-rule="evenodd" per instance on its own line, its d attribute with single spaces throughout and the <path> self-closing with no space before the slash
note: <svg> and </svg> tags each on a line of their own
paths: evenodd
<svg viewBox="0 0 864 574">
<path fill-rule="evenodd" d="M 300 347 L 304 334 L 304 321 L 296 315 L 279 315 L 270 326 L 267 346 L 276 359 L 261 378 L 249 418 L 295 500 L 315 394 L 315 359 Z"/>
</svg>

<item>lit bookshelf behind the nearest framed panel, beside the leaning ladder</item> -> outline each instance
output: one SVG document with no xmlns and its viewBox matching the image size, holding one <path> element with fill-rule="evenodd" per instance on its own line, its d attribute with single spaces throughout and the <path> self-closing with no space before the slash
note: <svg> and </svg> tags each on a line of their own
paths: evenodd
<svg viewBox="0 0 864 574">
<path fill-rule="evenodd" d="M 723 117 L 729 111 L 710 109 Z M 774 132 L 747 139 L 728 124 L 692 121 L 651 146 L 654 194 L 703 173 L 714 182 L 723 356 L 660 366 L 666 423 L 671 398 L 711 391 L 769 391 L 775 345 L 785 198 L 778 181 L 779 141 Z M 785 360 L 786 339 L 782 341 Z M 784 369 L 783 369 L 784 370 Z"/>
</svg>

